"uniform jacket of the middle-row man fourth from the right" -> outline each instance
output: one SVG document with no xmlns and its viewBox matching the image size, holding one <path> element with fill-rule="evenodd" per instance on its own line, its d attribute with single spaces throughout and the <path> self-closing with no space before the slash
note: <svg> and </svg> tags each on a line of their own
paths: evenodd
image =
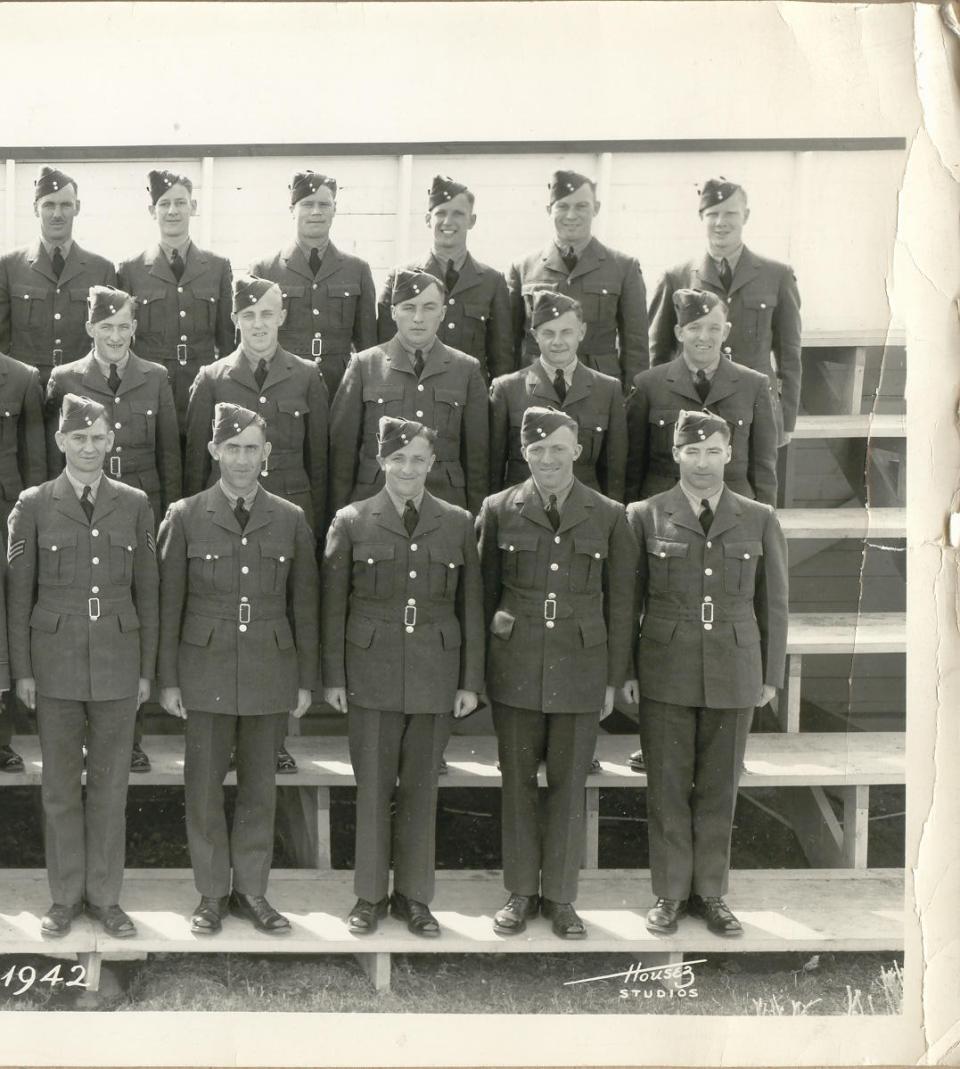
<svg viewBox="0 0 960 1069">
<path fill-rule="evenodd" d="M 323 530 L 327 496 L 327 390 L 316 366 L 278 348 L 263 386 L 243 346 L 201 368 L 187 406 L 184 493 L 199 493 L 220 478 L 206 444 L 218 402 L 227 401 L 266 420 L 273 445 L 261 484 L 298 505 L 315 531 Z"/>
</svg>

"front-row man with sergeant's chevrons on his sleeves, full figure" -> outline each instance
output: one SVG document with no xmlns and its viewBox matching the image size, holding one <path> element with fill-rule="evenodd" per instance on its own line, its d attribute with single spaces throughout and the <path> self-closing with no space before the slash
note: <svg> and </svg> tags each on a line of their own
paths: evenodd
<svg viewBox="0 0 960 1069">
<path fill-rule="evenodd" d="M 158 579 L 146 494 L 104 474 L 112 444 L 103 405 L 68 393 L 57 434 L 66 469 L 25 490 L 10 515 L 10 662 L 40 727 L 53 898 L 46 935 L 66 934 L 84 902 L 110 935 L 136 934 L 119 900 L 134 721 L 156 664 Z"/>
</svg>

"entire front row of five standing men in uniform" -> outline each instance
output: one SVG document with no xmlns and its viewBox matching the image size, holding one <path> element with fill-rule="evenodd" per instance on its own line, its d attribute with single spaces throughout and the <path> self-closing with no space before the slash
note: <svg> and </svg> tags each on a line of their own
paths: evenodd
<svg viewBox="0 0 960 1069">
<path fill-rule="evenodd" d="M 290 929 L 265 897 L 274 755 L 285 716 L 318 688 L 320 630 L 324 697 L 347 715 L 357 779 L 352 931 L 372 932 L 388 902 L 411 931 L 439 931 L 438 766 L 452 717 L 484 687 L 509 893 L 496 931 L 542 913 L 558 935 L 585 934 L 574 909 L 584 787 L 618 688 L 640 701 L 649 768 L 648 927 L 670 932 L 690 911 L 740 931 L 723 900 L 733 806 L 753 709 L 783 679 L 787 571 L 774 510 L 724 485 L 726 421 L 681 414 L 679 484 L 624 511 L 575 477 L 575 420 L 528 408 L 530 477 L 483 501 L 478 548 L 470 514 L 425 489 L 436 433 L 383 417 L 383 489 L 334 520 L 322 597 L 304 511 L 259 484 L 272 453 L 262 416 L 216 406 L 218 481 L 171 506 L 156 542 L 146 494 L 104 474 L 113 439 L 103 405 L 67 394 L 56 435 L 65 470 L 26 490 L 9 524 L 10 672 L 36 709 L 43 753 L 46 934 L 67 932 L 84 907 L 110 934 L 135 934 L 120 907 L 124 804 L 154 677 L 164 708 L 186 719 L 192 930 L 218 931 L 228 911 Z"/>
</svg>

